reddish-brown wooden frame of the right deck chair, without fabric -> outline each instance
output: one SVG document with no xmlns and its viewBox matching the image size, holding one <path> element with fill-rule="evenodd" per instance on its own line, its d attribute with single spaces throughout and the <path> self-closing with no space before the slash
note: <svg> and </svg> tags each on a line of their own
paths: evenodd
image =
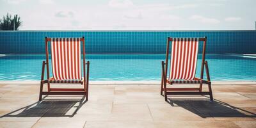
<svg viewBox="0 0 256 128">
<path fill-rule="evenodd" d="M 204 42 L 203 51 L 202 51 L 202 65 L 201 65 L 201 75 L 200 78 L 196 78 L 196 81 L 199 81 L 199 88 L 167 88 L 166 84 L 174 84 L 172 80 L 167 79 L 167 71 L 168 71 L 168 56 L 169 56 L 169 49 L 170 49 L 170 42 L 173 41 L 173 38 L 168 37 L 167 39 L 167 46 L 166 46 L 166 60 L 165 63 L 162 61 L 162 79 L 161 79 L 161 95 L 164 92 L 164 99 L 167 101 L 168 95 L 210 95 L 210 100 L 213 100 L 212 97 L 212 88 L 211 88 L 211 79 L 209 74 L 208 63 L 205 61 L 205 49 L 206 49 L 206 41 L 207 37 L 199 38 L 199 42 Z M 164 67 L 165 65 L 165 67 Z M 205 72 L 207 75 L 207 80 L 204 80 L 204 67 Z M 186 83 L 186 80 L 184 80 Z M 182 83 L 182 82 L 180 82 Z M 188 82 L 189 83 L 189 82 Z M 208 84 L 209 92 L 202 92 L 202 85 Z"/>
</svg>

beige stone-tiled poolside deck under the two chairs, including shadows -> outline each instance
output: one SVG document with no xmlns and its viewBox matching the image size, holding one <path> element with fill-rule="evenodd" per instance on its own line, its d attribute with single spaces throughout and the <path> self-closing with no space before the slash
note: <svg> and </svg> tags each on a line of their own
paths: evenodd
<svg viewBox="0 0 256 128">
<path fill-rule="evenodd" d="M 0 127 L 256 127 L 256 84 L 212 90 L 213 102 L 195 96 L 165 102 L 158 84 L 91 84 L 88 102 L 79 96 L 38 102 L 39 84 L 0 84 Z"/>
</svg>

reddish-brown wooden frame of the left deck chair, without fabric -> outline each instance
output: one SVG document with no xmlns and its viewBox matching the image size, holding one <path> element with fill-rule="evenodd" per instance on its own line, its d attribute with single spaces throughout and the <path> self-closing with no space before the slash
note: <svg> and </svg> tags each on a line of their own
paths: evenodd
<svg viewBox="0 0 256 128">
<path fill-rule="evenodd" d="M 49 72 L 48 42 L 51 42 L 51 38 L 45 37 L 46 62 L 43 61 L 43 65 L 42 65 L 42 76 L 41 76 L 41 83 L 40 83 L 39 100 L 42 100 L 42 95 L 84 95 L 86 97 L 86 101 L 88 100 L 90 61 L 87 61 L 87 63 L 85 62 L 84 36 L 83 38 L 79 38 L 79 41 L 83 42 L 83 79 L 82 80 L 54 80 L 52 77 L 50 78 L 50 72 Z M 47 71 L 47 79 L 44 79 L 45 65 L 46 65 L 46 71 Z M 85 67 L 87 68 L 87 70 L 85 70 Z M 43 86 L 45 83 L 47 83 L 47 89 L 48 89 L 47 92 L 43 92 Z M 80 84 L 83 84 L 84 86 L 83 88 L 51 88 L 50 83 L 80 83 Z"/>
</svg>

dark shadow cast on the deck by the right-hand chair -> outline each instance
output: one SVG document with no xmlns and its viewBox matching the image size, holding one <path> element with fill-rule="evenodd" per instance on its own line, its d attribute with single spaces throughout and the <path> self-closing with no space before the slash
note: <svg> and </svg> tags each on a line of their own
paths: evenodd
<svg viewBox="0 0 256 128">
<path fill-rule="evenodd" d="M 182 107 L 195 113 L 202 118 L 208 117 L 256 117 L 256 114 L 241 108 L 237 108 L 221 102 L 220 100 L 193 98 L 193 99 L 168 99 L 168 103 L 173 107 Z"/>
</svg>

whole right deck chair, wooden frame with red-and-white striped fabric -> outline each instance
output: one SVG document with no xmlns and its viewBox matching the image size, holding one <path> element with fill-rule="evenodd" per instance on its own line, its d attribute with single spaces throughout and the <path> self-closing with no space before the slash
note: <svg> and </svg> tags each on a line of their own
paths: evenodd
<svg viewBox="0 0 256 128">
<path fill-rule="evenodd" d="M 168 38 L 166 47 L 166 60 L 162 61 L 162 80 L 161 95 L 164 92 L 164 99 L 167 101 L 168 95 L 209 95 L 212 97 L 211 80 L 209 75 L 208 63 L 205 61 L 205 38 Z M 169 46 L 172 42 L 172 57 L 170 60 L 169 77 L 168 72 L 168 55 Z M 198 56 L 198 44 L 204 42 L 202 49 L 202 65 L 200 78 L 195 77 L 196 63 Z M 204 78 L 204 67 L 207 80 Z M 199 88 L 167 88 L 166 84 L 199 84 Z M 209 92 L 202 92 L 202 85 L 208 84 Z"/>
</svg>

